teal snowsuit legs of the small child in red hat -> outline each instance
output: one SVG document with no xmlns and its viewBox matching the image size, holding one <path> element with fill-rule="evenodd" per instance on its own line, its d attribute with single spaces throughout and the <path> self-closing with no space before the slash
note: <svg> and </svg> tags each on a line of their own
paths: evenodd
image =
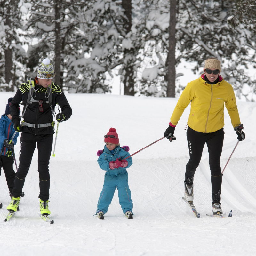
<svg viewBox="0 0 256 256">
<path fill-rule="evenodd" d="M 115 190 L 118 190 L 119 204 L 125 214 L 126 211 L 132 212 L 132 199 L 131 190 L 128 186 L 128 173 L 120 173 L 116 175 L 105 174 L 103 189 L 100 193 L 100 198 L 98 201 L 98 209 L 96 212 L 101 210 L 104 214 L 108 212 L 108 206 L 111 203 Z"/>
</svg>

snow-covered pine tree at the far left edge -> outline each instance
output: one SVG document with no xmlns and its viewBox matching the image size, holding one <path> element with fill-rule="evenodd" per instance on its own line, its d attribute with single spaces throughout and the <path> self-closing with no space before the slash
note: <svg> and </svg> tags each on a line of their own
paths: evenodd
<svg viewBox="0 0 256 256">
<path fill-rule="evenodd" d="M 26 52 L 19 39 L 22 13 L 30 7 L 23 0 L 0 1 L 0 91 L 14 91 L 24 77 Z"/>
</svg>

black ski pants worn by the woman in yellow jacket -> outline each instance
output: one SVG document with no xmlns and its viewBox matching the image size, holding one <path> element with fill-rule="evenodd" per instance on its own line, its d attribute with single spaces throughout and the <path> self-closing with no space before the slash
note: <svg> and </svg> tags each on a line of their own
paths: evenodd
<svg viewBox="0 0 256 256">
<path fill-rule="evenodd" d="M 222 182 L 220 156 L 224 140 L 223 128 L 216 132 L 203 133 L 197 132 L 188 127 L 187 140 L 189 149 L 189 161 L 186 165 L 185 182 L 187 180 L 193 181 L 196 168 L 198 167 L 202 157 L 204 144 L 206 143 L 208 147 L 209 165 L 212 176 L 212 203 L 219 203 Z"/>
</svg>

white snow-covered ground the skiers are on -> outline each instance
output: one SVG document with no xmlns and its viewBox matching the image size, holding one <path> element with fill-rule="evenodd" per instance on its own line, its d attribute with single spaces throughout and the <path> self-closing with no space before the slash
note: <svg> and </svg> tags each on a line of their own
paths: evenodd
<svg viewBox="0 0 256 256">
<path fill-rule="evenodd" d="M 2 113 L 11 96 L 13 93 L 0 93 Z M 163 136 L 177 99 L 66 96 L 73 115 L 59 125 L 56 157 L 51 157 L 49 166 L 49 208 L 54 224 L 38 215 L 35 151 L 20 211 L 9 222 L 4 222 L 10 198 L 2 170 L 0 255 L 255 255 L 256 103 L 237 104 L 246 139 L 238 144 L 224 171 L 221 194 L 222 209 L 226 214 L 232 209 L 232 218 L 206 216 L 212 211 L 206 147 L 194 183 L 194 203 L 201 218 L 195 218 L 181 199 L 189 156 L 184 130 L 187 108 L 175 130 L 176 141 L 160 140 L 132 157 L 128 173 L 134 219 L 125 218 L 116 192 L 105 220 L 99 220 L 93 214 L 104 171 L 98 166 L 96 153 L 103 149 L 104 135 L 110 127 L 116 128 L 121 146 L 128 145 L 132 154 Z M 222 168 L 237 142 L 227 111 L 225 123 Z M 15 149 L 19 151 L 19 143 Z"/>
</svg>

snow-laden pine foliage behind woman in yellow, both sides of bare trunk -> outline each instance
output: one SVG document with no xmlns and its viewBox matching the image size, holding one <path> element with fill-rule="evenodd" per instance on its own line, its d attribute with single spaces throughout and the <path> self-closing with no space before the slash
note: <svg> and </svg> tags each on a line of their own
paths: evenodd
<svg viewBox="0 0 256 256">
<path fill-rule="evenodd" d="M 169 3 L 167 0 L 152 0 L 150 12 L 145 17 L 146 45 L 150 50 L 145 49 L 144 55 L 155 52 L 157 57 L 151 61 L 153 67 L 145 69 L 142 74 L 140 88 L 146 95 L 166 96 Z M 205 59 L 211 56 L 221 59 L 224 78 L 234 86 L 238 96 L 252 100 L 250 95 L 255 91 L 255 82 L 246 75 L 245 69 L 255 66 L 254 34 L 242 24 L 236 29 L 228 25 L 234 6 L 234 2 L 224 0 L 177 1 L 176 65 L 182 59 L 196 62 L 195 71 L 198 71 L 202 70 Z M 176 92 L 179 90 L 176 84 Z"/>
</svg>

